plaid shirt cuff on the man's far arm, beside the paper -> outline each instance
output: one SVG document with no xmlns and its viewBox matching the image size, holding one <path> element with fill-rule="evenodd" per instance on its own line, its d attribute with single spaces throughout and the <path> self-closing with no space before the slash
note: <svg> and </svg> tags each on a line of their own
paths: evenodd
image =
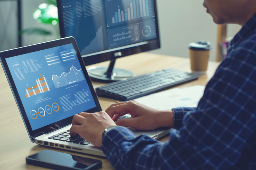
<svg viewBox="0 0 256 170">
<path fill-rule="evenodd" d="M 196 110 L 196 107 L 177 107 L 173 110 L 173 128 L 179 130 L 183 126 L 183 117 L 187 112 Z"/>
</svg>

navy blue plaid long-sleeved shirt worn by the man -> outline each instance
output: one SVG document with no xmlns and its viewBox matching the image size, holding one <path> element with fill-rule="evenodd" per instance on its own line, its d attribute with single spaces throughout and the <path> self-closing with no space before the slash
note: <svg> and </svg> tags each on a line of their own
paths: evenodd
<svg viewBox="0 0 256 170">
<path fill-rule="evenodd" d="M 166 142 L 136 137 L 124 127 L 104 133 L 102 149 L 111 164 L 140 170 L 256 170 L 256 14 L 233 38 L 198 107 L 173 111 L 174 129 Z"/>
</svg>

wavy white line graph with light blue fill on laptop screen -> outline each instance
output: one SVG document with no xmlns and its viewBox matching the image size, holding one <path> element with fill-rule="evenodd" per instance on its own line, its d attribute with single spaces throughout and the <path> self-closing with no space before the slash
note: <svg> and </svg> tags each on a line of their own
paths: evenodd
<svg viewBox="0 0 256 170">
<path fill-rule="evenodd" d="M 58 75 L 52 76 L 52 81 L 56 89 L 60 87 L 68 86 L 69 84 L 76 83 L 83 80 L 85 80 L 85 78 L 83 77 L 83 73 L 81 69 L 77 70 L 76 67 L 74 66 L 72 66 L 69 69 L 68 73 L 63 72 L 60 76 Z"/>
</svg>

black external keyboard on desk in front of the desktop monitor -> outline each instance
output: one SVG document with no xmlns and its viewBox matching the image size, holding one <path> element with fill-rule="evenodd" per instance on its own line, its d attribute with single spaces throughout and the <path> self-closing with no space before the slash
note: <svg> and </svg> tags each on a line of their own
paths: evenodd
<svg viewBox="0 0 256 170">
<path fill-rule="evenodd" d="M 96 93 L 98 96 L 128 101 L 197 79 L 196 74 L 168 68 L 106 84 L 96 88 Z"/>
</svg>

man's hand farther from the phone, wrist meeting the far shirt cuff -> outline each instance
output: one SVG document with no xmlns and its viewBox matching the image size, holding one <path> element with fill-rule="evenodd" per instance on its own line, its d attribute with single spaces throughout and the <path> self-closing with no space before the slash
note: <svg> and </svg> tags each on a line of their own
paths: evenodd
<svg viewBox="0 0 256 170">
<path fill-rule="evenodd" d="M 137 130 L 173 127 L 172 110 L 157 110 L 135 100 L 113 103 L 105 112 L 116 122 L 116 125 L 133 127 Z M 118 120 L 125 114 L 130 114 L 132 118 Z"/>
</svg>

